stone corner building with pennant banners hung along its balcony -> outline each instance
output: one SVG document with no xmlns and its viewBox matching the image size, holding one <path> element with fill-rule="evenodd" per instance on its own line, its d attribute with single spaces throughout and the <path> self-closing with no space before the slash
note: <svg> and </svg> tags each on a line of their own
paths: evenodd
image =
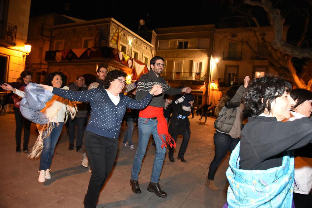
<svg viewBox="0 0 312 208">
<path fill-rule="evenodd" d="M 119 50 L 138 62 L 148 63 L 153 57 L 154 46 L 115 19 L 105 18 L 53 26 L 50 49 L 45 57 L 47 72 L 62 71 L 69 83 L 75 82 L 77 75 L 84 75 L 86 84 L 95 80 L 98 65 L 105 65 L 108 70 L 122 69 L 131 75 L 132 66 L 118 59 L 117 44 L 112 40 L 117 28 Z M 61 60 L 56 60 L 56 52 L 62 53 Z M 63 56 L 63 53 L 67 55 Z"/>
</svg>

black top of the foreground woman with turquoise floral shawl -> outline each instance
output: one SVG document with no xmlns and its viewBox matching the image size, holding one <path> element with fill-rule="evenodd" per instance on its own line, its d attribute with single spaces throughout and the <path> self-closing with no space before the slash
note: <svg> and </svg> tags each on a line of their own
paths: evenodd
<svg viewBox="0 0 312 208">
<path fill-rule="evenodd" d="M 240 169 L 278 167 L 284 151 L 303 147 L 311 141 L 311 119 L 279 122 L 275 117 L 249 117 L 241 131 Z"/>
</svg>

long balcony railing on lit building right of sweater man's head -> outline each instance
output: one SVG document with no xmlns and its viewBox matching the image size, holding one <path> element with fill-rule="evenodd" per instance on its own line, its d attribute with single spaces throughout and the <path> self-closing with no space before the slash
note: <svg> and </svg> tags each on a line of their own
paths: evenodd
<svg viewBox="0 0 312 208">
<path fill-rule="evenodd" d="M 179 72 L 179 71 L 166 71 L 162 73 L 165 80 L 205 80 L 206 73 L 202 72 Z"/>
</svg>

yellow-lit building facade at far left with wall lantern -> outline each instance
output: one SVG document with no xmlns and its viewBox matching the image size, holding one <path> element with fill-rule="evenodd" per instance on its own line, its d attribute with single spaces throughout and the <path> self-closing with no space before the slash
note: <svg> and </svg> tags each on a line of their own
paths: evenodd
<svg viewBox="0 0 312 208">
<path fill-rule="evenodd" d="M 0 3 L 0 80 L 14 82 L 25 70 L 30 0 Z"/>
</svg>

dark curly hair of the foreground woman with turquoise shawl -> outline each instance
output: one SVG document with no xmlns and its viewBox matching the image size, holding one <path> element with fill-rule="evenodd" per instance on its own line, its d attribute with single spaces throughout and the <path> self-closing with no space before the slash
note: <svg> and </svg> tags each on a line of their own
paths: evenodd
<svg viewBox="0 0 312 208">
<path fill-rule="evenodd" d="M 291 84 L 288 80 L 281 77 L 266 75 L 254 79 L 248 85 L 244 94 L 243 101 L 245 109 L 252 117 L 260 115 L 265 110 L 271 113 L 272 102 L 282 96 L 285 90 L 286 92 L 290 92 Z"/>
</svg>

